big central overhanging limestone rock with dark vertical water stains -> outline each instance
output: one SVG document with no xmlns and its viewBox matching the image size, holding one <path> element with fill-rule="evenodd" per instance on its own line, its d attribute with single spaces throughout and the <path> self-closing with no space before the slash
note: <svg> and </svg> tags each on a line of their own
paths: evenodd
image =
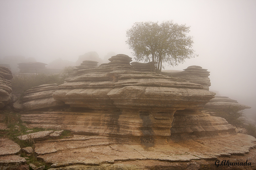
<svg viewBox="0 0 256 170">
<path fill-rule="evenodd" d="M 135 71 L 127 55 L 112 56 L 109 61 L 84 70 L 83 74 L 59 85 L 59 90 L 53 93 L 54 99 L 64 101 L 70 107 L 84 108 L 83 113 L 68 121 L 74 122 L 70 126 L 74 131 L 80 128 L 83 133 L 140 136 L 142 142 L 150 143 L 154 141 L 153 137 L 171 135 L 175 111 L 185 109 L 199 114 L 215 95 L 200 84 L 159 73 Z M 86 113 L 88 109 L 101 111 Z M 71 113 L 63 115 L 60 127 L 65 126 L 68 115 Z M 82 117 L 87 120 L 81 122 Z M 45 121 L 44 124 L 52 124 Z M 51 121 L 56 120 L 51 118 Z"/>
</svg>

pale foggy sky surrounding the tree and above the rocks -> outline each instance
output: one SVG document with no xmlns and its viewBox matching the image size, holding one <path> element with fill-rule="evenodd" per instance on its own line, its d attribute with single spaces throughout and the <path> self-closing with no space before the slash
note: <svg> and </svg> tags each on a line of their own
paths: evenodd
<svg viewBox="0 0 256 170">
<path fill-rule="evenodd" d="M 101 58 L 110 51 L 133 57 L 125 41 L 134 22 L 173 20 L 191 26 L 199 56 L 165 69 L 208 69 L 210 91 L 251 106 L 246 113 L 253 115 L 255 9 L 255 0 L 0 0 L 0 59 L 23 55 L 43 63 L 76 62 L 89 51 Z"/>
</svg>

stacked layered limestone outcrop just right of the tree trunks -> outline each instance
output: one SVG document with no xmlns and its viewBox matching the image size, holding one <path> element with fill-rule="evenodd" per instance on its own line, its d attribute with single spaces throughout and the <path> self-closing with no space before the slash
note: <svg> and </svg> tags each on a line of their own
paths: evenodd
<svg viewBox="0 0 256 170">
<path fill-rule="evenodd" d="M 189 66 L 184 71 L 162 71 L 162 74 L 168 75 L 175 78 L 182 78 L 192 83 L 197 83 L 203 86 L 205 90 L 209 90 L 209 86 L 211 86 L 210 72 L 207 69 L 203 69 L 200 66 Z"/>
</svg>

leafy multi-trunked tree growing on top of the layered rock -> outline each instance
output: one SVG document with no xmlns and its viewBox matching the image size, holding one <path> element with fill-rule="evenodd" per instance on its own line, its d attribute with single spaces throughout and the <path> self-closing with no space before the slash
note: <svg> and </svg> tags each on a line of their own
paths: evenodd
<svg viewBox="0 0 256 170">
<path fill-rule="evenodd" d="M 178 65 L 186 58 L 195 57 L 193 37 L 187 33 L 190 26 L 173 21 L 136 22 L 126 31 L 126 43 L 133 50 L 136 61 L 153 62 L 154 71 L 161 72 L 163 63 Z"/>
</svg>

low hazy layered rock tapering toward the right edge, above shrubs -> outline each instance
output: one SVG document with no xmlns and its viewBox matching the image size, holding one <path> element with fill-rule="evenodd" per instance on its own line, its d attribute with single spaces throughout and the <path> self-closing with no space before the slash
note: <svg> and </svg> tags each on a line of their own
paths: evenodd
<svg viewBox="0 0 256 170">
<path fill-rule="evenodd" d="M 215 110 L 226 110 L 229 108 L 235 108 L 238 110 L 244 110 L 251 108 L 237 102 L 237 100 L 230 99 L 225 96 L 215 96 L 208 103 L 206 103 L 205 109 L 215 109 Z"/>
</svg>

